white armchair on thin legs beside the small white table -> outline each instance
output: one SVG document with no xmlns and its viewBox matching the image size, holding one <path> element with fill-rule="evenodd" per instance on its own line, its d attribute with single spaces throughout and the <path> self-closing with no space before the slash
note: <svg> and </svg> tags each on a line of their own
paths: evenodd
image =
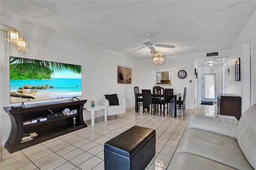
<svg viewBox="0 0 256 170">
<path fill-rule="evenodd" d="M 126 99 L 118 98 L 119 105 L 111 105 L 109 100 L 103 96 L 103 105 L 107 106 L 107 120 L 110 115 L 125 114 L 126 112 Z"/>
</svg>

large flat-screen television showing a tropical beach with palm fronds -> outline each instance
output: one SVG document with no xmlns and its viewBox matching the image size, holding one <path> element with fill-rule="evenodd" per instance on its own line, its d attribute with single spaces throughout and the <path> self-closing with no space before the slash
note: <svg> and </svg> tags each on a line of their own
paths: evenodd
<svg viewBox="0 0 256 170">
<path fill-rule="evenodd" d="M 82 96 L 82 66 L 10 56 L 10 103 Z"/>
</svg>

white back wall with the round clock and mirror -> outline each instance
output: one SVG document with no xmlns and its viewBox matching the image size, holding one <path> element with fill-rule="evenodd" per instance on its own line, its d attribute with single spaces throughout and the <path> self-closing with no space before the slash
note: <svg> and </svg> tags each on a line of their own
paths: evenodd
<svg viewBox="0 0 256 170">
<path fill-rule="evenodd" d="M 230 56 L 230 50 L 215 50 L 212 52 L 219 52 L 218 58 Z M 172 85 L 161 86 L 164 88 L 173 88 L 174 92 L 182 93 L 182 98 L 184 87 L 187 87 L 186 108 L 194 109 L 196 107 L 196 104 L 198 103 L 197 83 L 200 79 L 199 74 L 198 79 L 196 79 L 195 76 L 196 66 L 194 64 L 194 60 L 206 58 L 206 53 L 208 52 L 184 54 L 178 56 L 166 56 L 164 57 L 164 62 L 160 65 L 154 64 L 152 59 L 140 60 L 140 90 L 152 90 L 152 87 L 156 85 L 156 72 L 172 71 Z M 187 72 L 186 78 L 178 78 L 178 72 L 180 70 L 185 70 Z M 190 83 L 189 80 L 192 80 L 192 83 Z"/>
</svg>

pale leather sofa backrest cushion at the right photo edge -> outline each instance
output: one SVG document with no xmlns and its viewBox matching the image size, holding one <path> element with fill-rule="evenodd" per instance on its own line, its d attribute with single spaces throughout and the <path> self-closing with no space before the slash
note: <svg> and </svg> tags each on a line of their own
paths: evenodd
<svg viewBox="0 0 256 170">
<path fill-rule="evenodd" d="M 237 141 L 248 162 L 256 169 L 256 104 L 242 114 L 237 128 Z"/>
</svg>

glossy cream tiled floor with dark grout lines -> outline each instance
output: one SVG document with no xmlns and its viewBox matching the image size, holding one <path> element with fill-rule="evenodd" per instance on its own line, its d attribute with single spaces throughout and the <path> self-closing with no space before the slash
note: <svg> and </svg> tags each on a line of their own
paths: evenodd
<svg viewBox="0 0 256 170">
<path fill-rule="evenodd" d="M 30 148 L 9 154 L 6 149 L 0 162 L 1 170 L 104 170 L 104 143 L 134 125 L 156 130 L 156 154 L 146 170 L 165 170 L 182 138 L 192 114 L 214 116 L 217 106 L 201 105 L 195 110 L 187 109 L 177 118 L 162 114 L 140 114 L 134 108 L 126 109 L 123 115 L 104 116 L 95 119 L 95 126 L 88 127 L 42 142 Z"/>
</svg>

